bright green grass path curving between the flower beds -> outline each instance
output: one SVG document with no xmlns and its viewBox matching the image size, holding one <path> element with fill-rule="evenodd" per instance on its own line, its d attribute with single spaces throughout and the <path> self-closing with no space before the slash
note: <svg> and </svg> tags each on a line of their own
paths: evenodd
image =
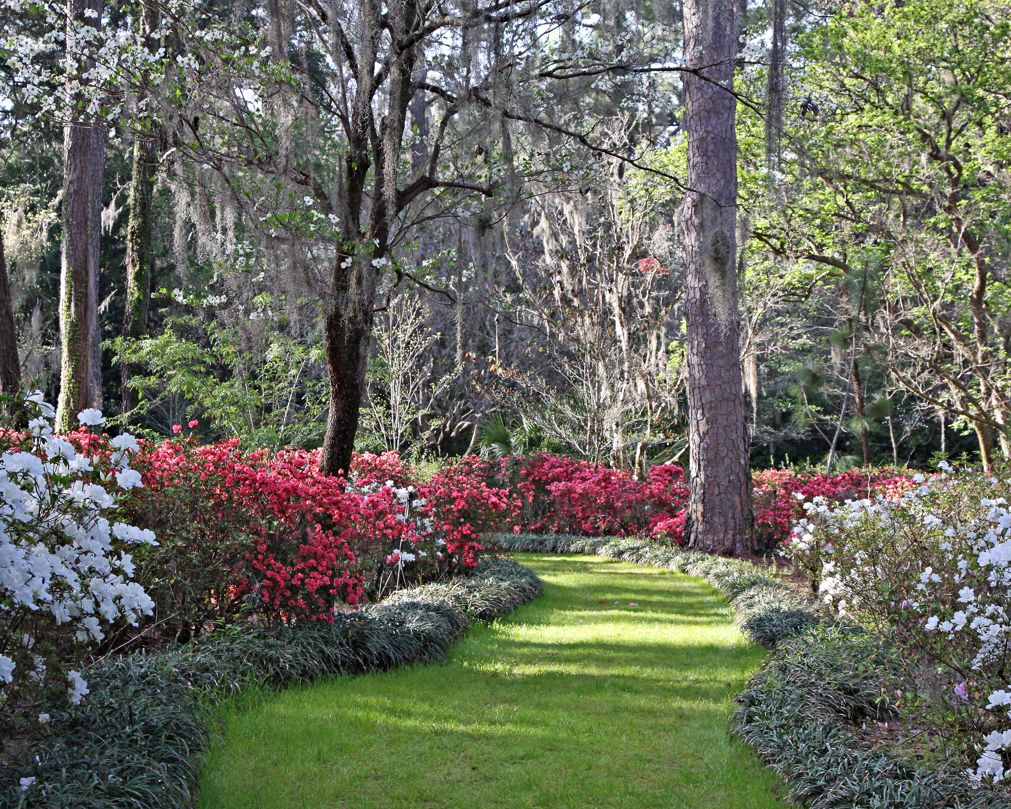
<svg viewBox="0 0 1011 809">
<path fill-rule="evenodd" d="M 544 596 L 445 663 L 233 711 L 203 809 L 784 806 L 727 732 L 763 652 L 708 585 L 600 557 L 517 558 Z"/>
</svg>

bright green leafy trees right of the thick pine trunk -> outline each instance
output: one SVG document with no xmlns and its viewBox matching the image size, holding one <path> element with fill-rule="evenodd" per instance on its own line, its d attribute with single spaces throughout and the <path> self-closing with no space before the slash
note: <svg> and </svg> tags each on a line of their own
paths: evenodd
<svg viewBox="0 0 1011 809">
<path fill-rule="evenodd" d="M 841 421 L 872 451 L 877 443 L 898 456 L 893 442 L 912 447 L 914 430 L 929 438 L 910 408 L 925 400 L 999 432 L 1001 335 L 1011 323 L 1011 297 L 997 281 L 1011 244 L 1007 9 L 987 0 L 861 4 L 799 27 L 789 148 L 774 176 L 762 122 L 739 118 L 753 236 L 747 307 L 754 331 L 776 341 L 766 390 L 806 364 L 829 383 L 816 395 L 800 380 L 793 430 L 768 402 L 778 429 L 766 417 L 758 434 L 774 442 L 818 428 L 827 444 Z M 763 81 L 746 72 L 753 92 Z M 908 397 L 854 417 L 857 384 L 871 404 L 897 389 Z"/>
</svg>

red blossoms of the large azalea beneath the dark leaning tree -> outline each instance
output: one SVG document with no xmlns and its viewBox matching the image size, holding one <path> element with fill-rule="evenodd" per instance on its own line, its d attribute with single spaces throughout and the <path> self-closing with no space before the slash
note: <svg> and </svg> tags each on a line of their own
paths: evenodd
<svg viewBox="0 0 1011 809">
<path fill-rule="evenodd" d="M 252 597 L 282 617 L 328 619 L 362 596 L 358 554 L 399 542 L 412 527 L 388 488 L 349 491 L 341 478 L 320 475 L 316 458 L 301 450 L 245 452 L 239 441 L 198 446 L 171 440 L 148 446 L 137 458 L 146 488 L 131 501 L 142 517 L 157 519 L 167 503 L 186 504 L 188 542 L 227 543 L 247 537 L 248 548 L 218 582 L 218 603 L 237 607 Z"/>
</svg>

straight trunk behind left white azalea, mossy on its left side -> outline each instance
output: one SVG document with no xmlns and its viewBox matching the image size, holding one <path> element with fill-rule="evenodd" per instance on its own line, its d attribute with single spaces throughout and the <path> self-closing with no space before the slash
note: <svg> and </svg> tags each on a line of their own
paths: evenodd
<svg viewBox="0 0 1011 809">
<path fill-rule="evenodd" d="M 96 11 L 98 16 L 86 17 L 85 11 Z M 67 13 L 80 22 L 101 24 L 102 0 L 68 0 Z M 77 414 L 85 408 L 102 407 L 98 262 L 104 170 L 105 130 L 83 120 L 64 126 L 58 430 L 75 426 Z"/>
</svg>

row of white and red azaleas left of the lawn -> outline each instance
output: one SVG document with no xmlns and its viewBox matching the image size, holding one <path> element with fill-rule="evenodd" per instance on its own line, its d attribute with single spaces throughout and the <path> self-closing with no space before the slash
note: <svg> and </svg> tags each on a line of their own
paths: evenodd
<svg viewBox="0 0 1011 809">
<path fill-rule="evenodd" d="M 56 436 L 40 395 L 3 409 L 0 726 L 27 716 L 41 729 L 38 705 L 79 702 L 89 657 L 252 615 L 332 623 L 473 569 L 479 533 L 517 508 L 465 464 L 416 486 L 363 457 L 349 484 L 320 474 L 314 453 L 199 445 L 181 428 L 159 443 L 109 439 L 93 410 Z"/>
</svg>

